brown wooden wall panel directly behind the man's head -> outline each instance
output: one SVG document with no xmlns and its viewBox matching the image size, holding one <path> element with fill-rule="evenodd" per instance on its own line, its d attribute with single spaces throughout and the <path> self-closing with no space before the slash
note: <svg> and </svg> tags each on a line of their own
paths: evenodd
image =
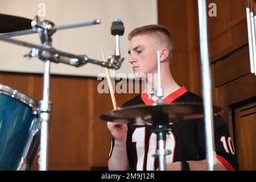
<svg viewBox="0 0 256 182">
<path fill-rule="evenodd" d="M 181 86 L 201 96 L 201 70 L 196 0 L 159 0 L 159 24 L 174 38 L 171 72 Z"/>
</svg>

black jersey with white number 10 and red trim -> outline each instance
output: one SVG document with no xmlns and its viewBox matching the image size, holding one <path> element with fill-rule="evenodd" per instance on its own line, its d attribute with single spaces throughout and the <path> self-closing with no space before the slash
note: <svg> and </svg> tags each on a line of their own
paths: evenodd
<svg viewBox="0 0 256 182">
<path fill-rule="evenodd" d="M 176 90 L 164 98 L 164 102 L 202 102 L 201 97 L 187 91 L 184 87 Z M 153 104 L 146 93 L 139 94 L 127 101 L 123 106 Z M 155 170 L 158 160 L 152 157 L 155 154 L 156 134 L 151 132 L 150 125 L 128 125 L 127 131 L 127 157 L 131 170 Z M 166 156 L 166 163 L 170 164 L 182 160 L 204 160 L 205 157 L 205 131 L 204 119 L 177 122 L 170 125 L 171 133 L 166 137 L 166 149 L 172 154 Z M 216 158 L 229 170 L 237 170 L 237 157 L 228 127 L 220 115 L 214 117 L 214 138 Z M 114 139 L 112 141 L 112 149 Z M 112 155 L 110 151 L 109 157 Z"/>
</svg>

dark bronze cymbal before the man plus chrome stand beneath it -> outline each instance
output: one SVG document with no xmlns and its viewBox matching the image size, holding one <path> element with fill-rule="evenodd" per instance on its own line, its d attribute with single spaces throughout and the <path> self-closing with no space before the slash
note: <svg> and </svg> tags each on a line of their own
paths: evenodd
<svg viewBox="0 0 256 182">
<path fill-rule="evenodd" d="M 214 115 L 220 114 L 222 109 L 213 106 Z M 166 170 L 164 156 L 170 155 L 172 151 L 167 151 L 163 143 L 166 133 L 171 131 L 168 127 L 177 122 L 193 122 L 193 119 L 204 117 L 204 105 L 192 102 L 172 102 L 171 104 L 135 105 L 121 107 L 100 115 L 104 121 L 117 122 L 133 125 L 152 125 L 152 132 L 156 133 L 158 140 L 158 150 L 154 157 L 158 157 L 159 170 Z"/>
</svg>

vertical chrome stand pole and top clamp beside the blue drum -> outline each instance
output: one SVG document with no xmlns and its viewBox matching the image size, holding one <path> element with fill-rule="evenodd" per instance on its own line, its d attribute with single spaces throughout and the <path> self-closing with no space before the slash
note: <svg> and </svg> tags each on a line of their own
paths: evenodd
<svg viewBox="0 0 256 182">
<path fill-rule="evenodd" d="M 44 47 L 52 47 L 51 36 L 55 32 L 52 30 L 54 24 L 48 20 L 40 22 L 38 16 L 31 22 L 34 30 L 37 30 L 40 40 Z M 39 102 L 39 115 L 41 122 L 40 135 L 40 158 L 39 170 L 48 170 L 48 146 L 49 146 L 49 122 L 51 121 L 52 102 L 49 100 L 50 96 L 50 60 L 42 59 L 44 61 L 44 75 L 43 75 L 43 100 Z"/>
</svg>

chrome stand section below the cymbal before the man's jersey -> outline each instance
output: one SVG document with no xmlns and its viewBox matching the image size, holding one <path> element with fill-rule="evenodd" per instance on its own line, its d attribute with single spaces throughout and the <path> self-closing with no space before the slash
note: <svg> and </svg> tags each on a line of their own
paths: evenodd
<svg viewBox="0 0 256 182">
<path fill-rule="evenodd" d="M 152 132 L 156 134 L 158 141 L 158 150 L 153 157 L 158 158 L 159 171 L 166 171 L 166 155 L 170 155 L 172 151 L 166 150 L 166 134 L 171 130 L 164 125 L 156 125 L 153 127 Z"/>
</svg>

